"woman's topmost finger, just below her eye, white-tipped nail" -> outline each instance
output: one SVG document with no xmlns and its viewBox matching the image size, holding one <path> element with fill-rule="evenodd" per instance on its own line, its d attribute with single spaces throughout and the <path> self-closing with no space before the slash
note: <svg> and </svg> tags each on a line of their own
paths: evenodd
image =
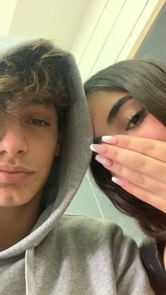
<svg viewBox="0 0 166 295">
<path fill-rule="evenodd" d="M 115 137 L 102 137 L 103 142 L 120 146 L 125 149 L 143 153 L 143 155 L 166 162 L 166 143 L 155 139 L 116 135 Z"/>
</svg>

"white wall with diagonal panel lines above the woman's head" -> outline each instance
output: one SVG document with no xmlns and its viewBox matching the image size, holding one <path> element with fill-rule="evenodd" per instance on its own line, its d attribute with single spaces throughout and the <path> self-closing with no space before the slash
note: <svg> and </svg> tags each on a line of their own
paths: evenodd
<svg viewBox="0 0 166 295">
<path fill-rule="evenodd" d="M 72 44 L 83 80 L 127 58 L 158 0 L 91 0 Z"/>
</svg>

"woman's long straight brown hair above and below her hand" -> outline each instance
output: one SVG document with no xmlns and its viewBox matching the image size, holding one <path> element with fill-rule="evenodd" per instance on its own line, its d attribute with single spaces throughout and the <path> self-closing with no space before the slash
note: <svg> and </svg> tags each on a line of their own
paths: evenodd
<svg viewBox="0 0 166 295">
<path fill-rule="evenodd" d="M 84 89 L 87 99 L 90 99 L 92 92 L 101 90 L 126 91 L 166 126 L 165 63 L 147 60 L 122 61 L 96 73 L 84 84 Z M 136 218 L 143 232 L 149 236 L 166 241 L 165 213 L 113 183 L 110 172 L 95 160 L 94 154 L 90 168 L 98 187 L 122 213 Z"/>
</svg>

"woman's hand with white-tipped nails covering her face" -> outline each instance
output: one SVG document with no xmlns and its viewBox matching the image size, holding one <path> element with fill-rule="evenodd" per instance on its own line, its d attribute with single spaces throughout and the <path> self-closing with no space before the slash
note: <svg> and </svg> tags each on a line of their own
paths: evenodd
<svg viewBox="0 0 166 295">
<path fill-rule="evenodd" d="M 166 213 L 166 143 L 117 135 L 92 144 L 96 160 L 110 170 L 113 182 Z"/>
</svg>

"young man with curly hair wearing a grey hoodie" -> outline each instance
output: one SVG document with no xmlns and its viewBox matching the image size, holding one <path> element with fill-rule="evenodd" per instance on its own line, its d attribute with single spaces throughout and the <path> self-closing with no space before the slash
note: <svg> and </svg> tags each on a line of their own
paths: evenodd
<svg viewBox="0 0 166 295">
<path fill-rule="evenodd" d="M 153 294 L 117 225 L 63 215 L 91 157 L 74 59 L 42 40 L 0 44 L 0 294 Z"/>
</svg>

